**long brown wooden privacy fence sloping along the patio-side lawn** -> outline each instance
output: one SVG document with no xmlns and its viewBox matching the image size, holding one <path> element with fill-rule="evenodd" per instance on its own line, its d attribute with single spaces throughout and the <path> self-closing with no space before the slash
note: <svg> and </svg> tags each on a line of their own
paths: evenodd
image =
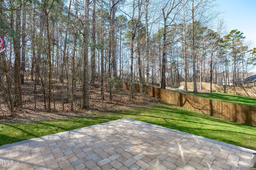
<svg viewBox="0 0 256 170">
<path fill-rule="evenodd" d="M 159 98 L 167 103 L 193 109 L 213 117 L 256 127 L 256 107 L 254 106 L 220 102 L 154 86 L 143 86 L 144 92 L 147 95 Z M 122 87 L 130 90 L 130 84 L 127 82 L 122 82 Z M 141 92 L 140 85 L 134 84 L 134 90 L 135 92 Z"/>
</svg>

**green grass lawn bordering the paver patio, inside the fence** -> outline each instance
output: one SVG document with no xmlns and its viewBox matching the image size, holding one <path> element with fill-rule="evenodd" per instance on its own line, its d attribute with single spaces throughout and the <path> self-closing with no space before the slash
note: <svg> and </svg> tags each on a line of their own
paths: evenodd
<svg viewBox="0 0 256 170">
<path fill-rule="evenodd" d="M 150 103 L 130 109 L 93 113 L 89 117 L 59 121 L 0 123 L 0 145 L 129 117 L 256 150 L 256 127 L 210 117 L 170 104 Z"/>
</svg>

